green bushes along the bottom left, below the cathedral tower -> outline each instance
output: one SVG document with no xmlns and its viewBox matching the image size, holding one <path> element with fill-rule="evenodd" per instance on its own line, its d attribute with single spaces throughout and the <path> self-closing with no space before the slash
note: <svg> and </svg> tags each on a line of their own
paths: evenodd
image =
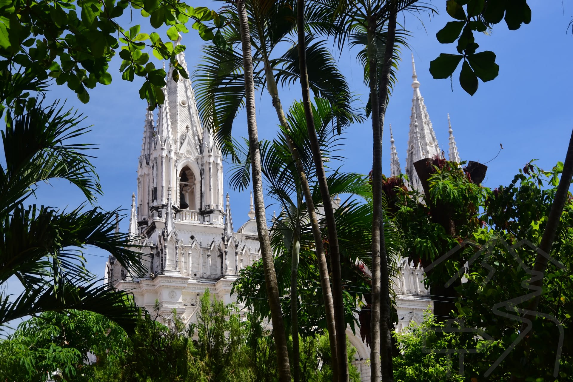
<svg viewBox="0 0 573 382">
<path fill-rule="evenodd" d="M 0 340 L 2 380 L 46 381 L 278 381 L 272 335 L 256 316 L 246 320 L 209 289 L 197 322 L 186 328 L 177 312 L 156 304 L 134 333 L 99 314 L 44 313 Z M 332 380 L 328 337 L 301 337 L 301 381 Z M 355 349 L 348 344 L 348 354 Z M 88 354 L 96 362 L 88 362 Z M 351 361 L 349 357 L 349 363 Z M 360 380 L 350 365 L 351 381 Z"/>
</svg>

